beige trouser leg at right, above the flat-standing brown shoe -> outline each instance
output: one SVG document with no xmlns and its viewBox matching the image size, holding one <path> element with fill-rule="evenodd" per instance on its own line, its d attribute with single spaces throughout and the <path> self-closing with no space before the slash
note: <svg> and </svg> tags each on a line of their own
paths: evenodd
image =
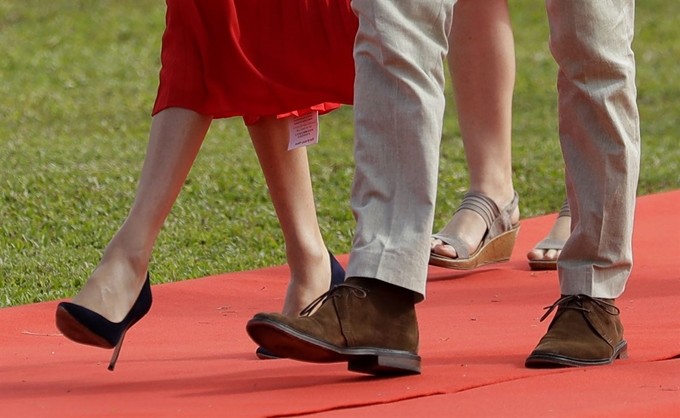
<svg viewBox="0 0 680 418">
<path fill-rule="evenodd" d="M 635 1 L 546 0 L 546 7 L 573 230 L 558 261 L 560 290 L 616 298 L 633 264 L 640 169 Z"/>
</svg>

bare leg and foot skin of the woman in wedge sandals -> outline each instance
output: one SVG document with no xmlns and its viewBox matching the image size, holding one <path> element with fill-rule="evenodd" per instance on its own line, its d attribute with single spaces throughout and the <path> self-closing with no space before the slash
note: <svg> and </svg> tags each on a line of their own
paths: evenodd
<svg viewBox="0 0 680 418">
<path fill-rule="evenodd" d="M 505 207 L 514 196 L 512 184 L 512 92 L 515 49 L 507 0 L 460 0 L 450 35 L 449 69 L 470 175 L 470 191 L 482 193 Z M 519 209 L 513 216 L 519 221 Z M 463 210 L 447 230 L 457 231 L 474 252 L 486 231 L 475 212 Z M 441 240 L 433 252 L 457 257 Z"/>
</svg>

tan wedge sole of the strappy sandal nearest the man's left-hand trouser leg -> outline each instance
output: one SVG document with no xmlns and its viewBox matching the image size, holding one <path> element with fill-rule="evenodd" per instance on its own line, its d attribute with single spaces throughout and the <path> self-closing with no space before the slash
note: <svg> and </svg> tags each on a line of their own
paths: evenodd
<svg viewBox="0 0 680 418">
<path fill-rule="evenodd" d="M 475 251 L 470 258 L 449 258 L 430 253 L 430 264 L 454 270 L 472 270 L 487 264 L 504 263 L 510 260 L 515 247 L 519 225 L 487 242 Z"/>
</svg>

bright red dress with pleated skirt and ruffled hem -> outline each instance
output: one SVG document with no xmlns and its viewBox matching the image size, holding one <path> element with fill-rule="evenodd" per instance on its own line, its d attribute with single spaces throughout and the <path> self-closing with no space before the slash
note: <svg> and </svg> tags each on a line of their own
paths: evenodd
<svg viewBox="0 0 680 418">
<path fill-rule="evenodd" d="M 167 0 L 153 114 L 215 118 L 351 104 L 358 21 L 350 0 Z"/>
</svg>

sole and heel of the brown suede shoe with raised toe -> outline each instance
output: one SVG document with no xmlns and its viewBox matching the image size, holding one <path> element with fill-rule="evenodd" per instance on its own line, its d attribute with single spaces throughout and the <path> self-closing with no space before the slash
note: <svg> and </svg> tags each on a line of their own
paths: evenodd
<svg viewBox="0 0 680 418">
<path fill-rule="evenodd" d="M 421 358 L 409 351 L 375 347 L 336 347 L 268 319 L 251 319 L 250 338 L 278 356 L 309 363 L 347 362 L 352 372 L 374 376 L 420 374 Z"/>
</svg>

